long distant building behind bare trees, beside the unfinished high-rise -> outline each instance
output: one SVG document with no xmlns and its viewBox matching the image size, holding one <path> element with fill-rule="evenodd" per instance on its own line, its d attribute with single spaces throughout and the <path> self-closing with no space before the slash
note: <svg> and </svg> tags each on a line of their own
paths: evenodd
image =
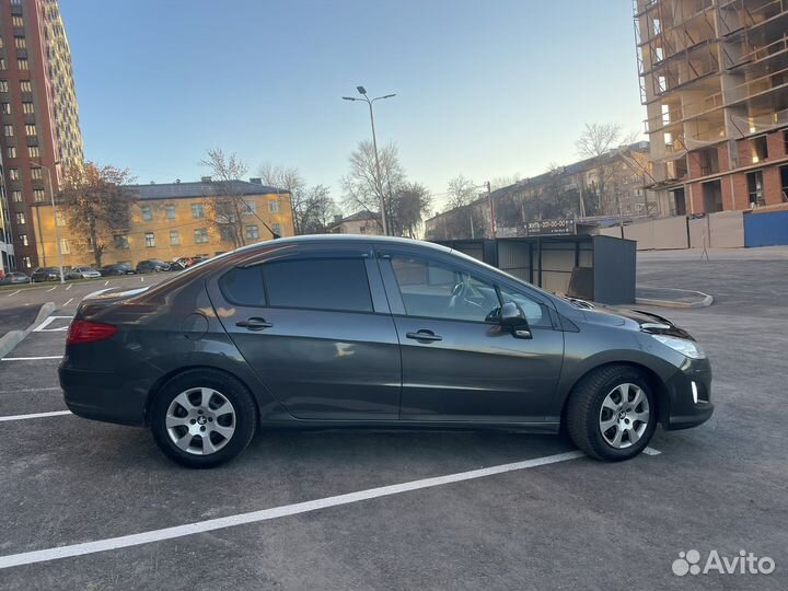
<svg viewBox="0 0 788 591">
<path fill-rule="evenodd" d="M 622 217 L 626 219 L 670 215 L 660 209 L 652 183 L 648 142 L 623 146 L 603 154 L 558 166 L 524 178 L 471 205 L 444 211 L 425 222 L 428 240 L 517 235 L 529 221 L 541 219 Z"/>
</svg>

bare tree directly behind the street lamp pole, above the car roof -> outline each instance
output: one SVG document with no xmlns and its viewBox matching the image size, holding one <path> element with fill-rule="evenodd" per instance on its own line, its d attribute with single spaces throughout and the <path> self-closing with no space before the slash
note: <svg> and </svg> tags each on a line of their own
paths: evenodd
<svg viewBox="0 0 788 591">
<path fill-rule="evenodd" d="M 405 172 L 399 164 L 397 149 L 390 143 L 378 151 L 380 159 L 380 178 L 375 167 L 374 147 L 371 141 L 359 142 L 350 153 L 350 170 L 341 178 L 345 193 L 344 204 L 349 210 L 363 210 L 376 213 L 384 204 L 386 219 L 392 220 L 394 213 L 394 195 L 405 182 Z M 378 224 L 382 229 L 382 222 Z"/>
</svg>

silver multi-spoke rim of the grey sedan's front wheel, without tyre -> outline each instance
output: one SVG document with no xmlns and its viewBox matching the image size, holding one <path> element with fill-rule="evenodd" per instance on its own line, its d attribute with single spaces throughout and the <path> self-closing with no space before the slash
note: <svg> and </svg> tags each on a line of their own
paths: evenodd
<svg viewBox="0 0 788 591">
<path fill-rule="evenodd" d="M 651 412 L 644 390 L 631 383 L 619 384 L 605 396 L 599 427 L 607 444 L 617 450 L 635 445 L 648 428 Z"/>
</svg>

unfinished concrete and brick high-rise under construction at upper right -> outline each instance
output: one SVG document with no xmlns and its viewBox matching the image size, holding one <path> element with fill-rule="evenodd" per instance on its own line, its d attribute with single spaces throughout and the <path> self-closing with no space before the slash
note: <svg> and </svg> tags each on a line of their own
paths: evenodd
<svg viewBox="0 0 788 591">
<path fill-rule="evenodd" d="M 635 0 L 663 213 L 788 205 L 788 0 Z"/>
</svg>

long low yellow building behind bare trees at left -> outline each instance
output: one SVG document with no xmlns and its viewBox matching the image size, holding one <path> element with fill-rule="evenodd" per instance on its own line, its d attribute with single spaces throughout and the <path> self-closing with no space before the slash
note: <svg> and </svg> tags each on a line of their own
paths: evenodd
<svg viewBox="0 0 788 591">
<path fill-rule="evenodd" d="M 218 185 L 209 177 L 195 183 L 157 183 L 128 188 L 135 198 L 129 223 L 114 230 L 112 235 L 102 236 L 108 246 L 102 256 L 103 265 L 136 265 L 149 258 L 169 262 L 182 256 L 216 256 L 236 247 L 234 229 L 222 228 L 222 220 L 217 216 L 216 204 L 228 198 L 217 196 Z M 273 232 L 280 236 L 293 235 L 288 192 L 263 185 L 259 178 L 234 181 L 229 188 L 232 198 L 245 201 L 239 222 L 244 244 L 270 240 Z M 36 236 L 44 236 L 34 244 L 42 266 L 57 265 L 56 223 L 63 265 L 94 264 L 94 253 L 85 237 L 76 235 L 70 228 L 68 211 L 58 208 L 54 216 L 51 205 L 46 202 L 34 204 L 32 211 L 31 223 Z"/>
</svg>

